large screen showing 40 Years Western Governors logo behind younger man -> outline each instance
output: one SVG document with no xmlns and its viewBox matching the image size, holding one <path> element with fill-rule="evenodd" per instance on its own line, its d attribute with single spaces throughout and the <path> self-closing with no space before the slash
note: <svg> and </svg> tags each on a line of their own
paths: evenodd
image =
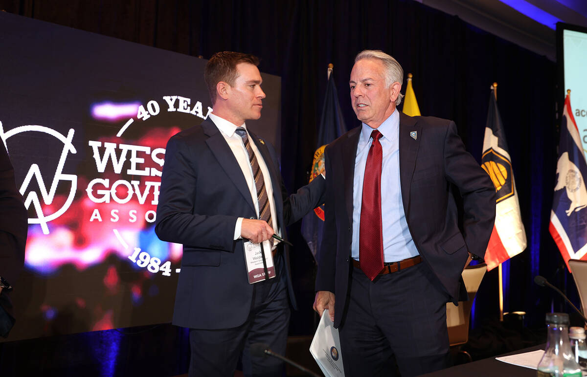
<svg viewBox="0 0 587 377">
<path fill-rule="evenodd" d="M 29 217 L 8 340 L 170 322 L 182 249 L 154 233 L 161 170 L 210 113 L 207 60 L 5 12 L 0 51 L 0 139 Z M 279 151 L 281 80 L 262 77 L 247 125 Z"/>
</svg>

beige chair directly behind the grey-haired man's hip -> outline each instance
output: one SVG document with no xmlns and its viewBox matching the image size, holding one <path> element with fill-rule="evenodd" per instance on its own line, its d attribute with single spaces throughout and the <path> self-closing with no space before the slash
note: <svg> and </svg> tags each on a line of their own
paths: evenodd
<svg viewBox="0 0 587 377">
<path fill-rule="evenodd" d="M 474 266 L 468 265 L 463 271 L 463 281 L 467 288 L 469 301 L 459 301 L 458 307 L 452 302 L 446 304 L 446 325 L 448 328 L 448 342 L 451 347 L 463 345 L 469 338 L 469 318 L 471 317 L 473 299 L 486 271 L 487 264 L 485 263 Z"/>
</svg>

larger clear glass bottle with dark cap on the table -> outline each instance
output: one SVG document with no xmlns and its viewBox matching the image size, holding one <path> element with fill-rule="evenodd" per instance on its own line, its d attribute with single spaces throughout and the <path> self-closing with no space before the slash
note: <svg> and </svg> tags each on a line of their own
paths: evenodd
<svg viewBox="0 0 587 377">
<path fill-rule="evenodd" d="M 582 377 L 569 342 L 569 315 L 546 313 L 546 351 L 538 363 L 538 377 Z"/>
</svg>

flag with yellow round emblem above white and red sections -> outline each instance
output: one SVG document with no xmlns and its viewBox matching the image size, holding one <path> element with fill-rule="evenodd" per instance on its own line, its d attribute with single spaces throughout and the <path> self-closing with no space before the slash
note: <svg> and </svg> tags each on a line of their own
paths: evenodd
<svg viewBox="0 0 587 377">
<path fill-rule="evenodd" d="M 481 167 L 495 186 L 495 224 L 485 251 L 487 271 L 497 267 L 526 248 L 526 232 L 519 211 L 508 144 L 497 109 L 494 89 L 491 89 Z"/>
</svg>

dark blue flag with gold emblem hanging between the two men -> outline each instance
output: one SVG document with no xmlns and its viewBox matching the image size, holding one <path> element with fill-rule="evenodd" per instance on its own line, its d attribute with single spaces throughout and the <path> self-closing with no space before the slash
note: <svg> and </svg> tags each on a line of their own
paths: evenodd
<svg viewBox="0 0 587 377">
<path fill-rule="evenodd" d="M 310 181 L 321 174 L 324 169 L 324 149 L 326 144 L 332 142 L 337 137 L 346 132 L 345 120 L 340 111 L 338 96 L 336 94 L 336 85 L 334 79 L 330 78 L 332 66 L 328 67 L 328 82 L 326 83 L 326 96 L 322 106 L 322 118 L 318 129 L 318 142 L 314 159 L 312 161 L 312 171 Z M 322 228 L 324 227 L 324 204 L 315 208 L 311 213 L 306 214 L 302 219 L 302 235 L 316 261 L 322 244 Z"/>
</svg>

